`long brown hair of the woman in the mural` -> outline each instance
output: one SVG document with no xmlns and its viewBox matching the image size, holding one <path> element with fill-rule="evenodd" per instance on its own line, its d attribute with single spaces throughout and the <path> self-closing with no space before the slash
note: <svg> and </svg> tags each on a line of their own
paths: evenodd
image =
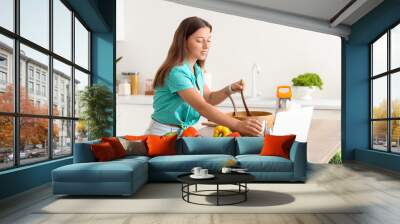
<svg viewBox="0 0 400 224">
<path fill-rule="evenodd" d="M 187 39 L 198 29 L 203 27 L 208 27 L 210 28 L 210 32 L 212 31 L 210 23 L 196 16 L 186 18 L 179 24 L 178 29 L 175 31 L 172 44 L 169 47 L 167 58 L 157 70 L 153 82 L 154 89 L 158 86 L 163 86 L 165 78 L 172 67 L 183 62 L 185 59 L 185 49 L 187 48 Z M 199 64 L 201 68 L 204 67 L 204 63 L 205 60 L 197 60 L 197 64 Z"/>
</svg>

